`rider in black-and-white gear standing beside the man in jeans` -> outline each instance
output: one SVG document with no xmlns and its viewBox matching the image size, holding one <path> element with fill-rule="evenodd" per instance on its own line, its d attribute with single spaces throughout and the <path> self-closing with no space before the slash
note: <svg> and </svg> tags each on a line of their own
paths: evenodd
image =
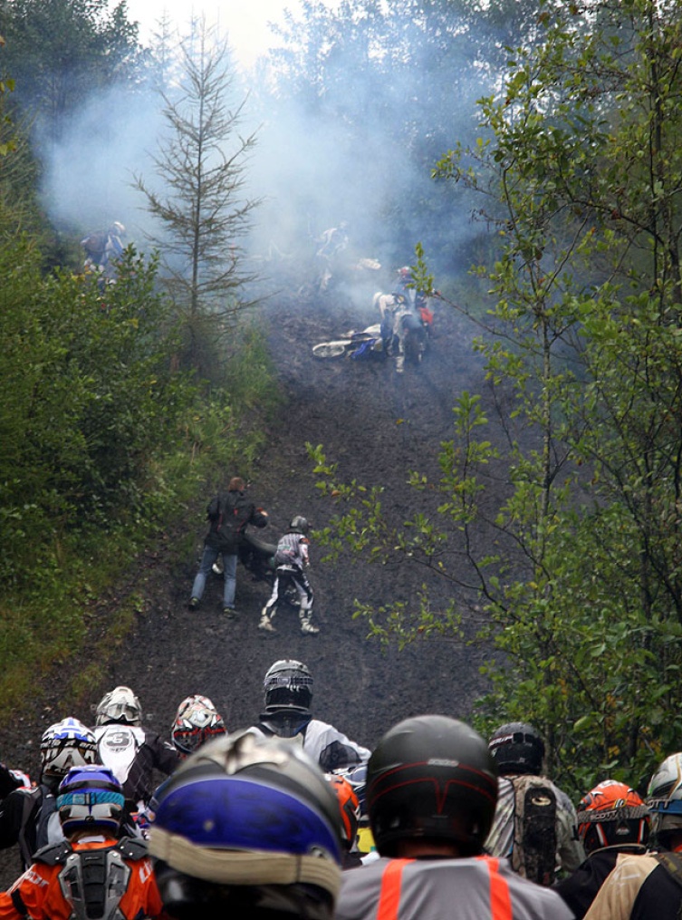
<svg viewBox="0 0 682 920">
<path fill-rule="evenodd" d="M 279 538 L 275 552 L 275 581 L 272 593 L 260 615 L 258 628 L 265 632 L 276 632 L 272 625 L 272 618 L 277 611 L 279 598 L 292 585 L 299 596 L 299 622 L 301 632 L 307 636 L 319 633 L 319 628 L 313 626 L 313 589 L 305 574 L 305 569 L 310 565 L 308 539 L 309 525 L 306 518 L 297 514 L 291 519 L 289 530 Z"/>
</svg>

